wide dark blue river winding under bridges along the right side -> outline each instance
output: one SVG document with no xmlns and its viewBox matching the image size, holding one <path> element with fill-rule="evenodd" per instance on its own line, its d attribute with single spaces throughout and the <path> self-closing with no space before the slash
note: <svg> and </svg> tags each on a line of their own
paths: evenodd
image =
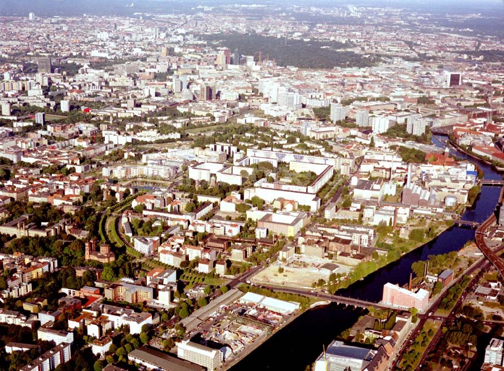
<svg viewBox="0 0 504 371">
<path fill-rule="evenodd" d="M 444 146 L 436 137 L 432 141 Z M 476 162 L 474 159 L 455 150 L 452 155 Z M 490 166 L 477 161 L 485 179 L 502 179 Z M 464 212 L 463 219 L 483 221 L 494 210 L 500 194 L 500 187 L 482 187 L 472 208 Z M 338 294 L 351 298 L 379 302 L 382 299 L 383 285 L 387 282 L 404 285 L 408 282 L 411 264 L 426 260 L 429 255 L 443 254 L 460 250 L 467 241 L 474 239 L 474 230 L 452 227 L 432 241 L 405 254 L 393 263 L 369 274 Z M 358 319 L 360 312 L 342 309 L 336 305 L 320 307 L 302 314 L 286 328 L 280 330 L 264 344 L 251 352 L 231 371 L 281 370 L 304 371 L 322 352 L 322 346 L 329 344 L 341 331 L 350 327 Z"/>
</svg>

